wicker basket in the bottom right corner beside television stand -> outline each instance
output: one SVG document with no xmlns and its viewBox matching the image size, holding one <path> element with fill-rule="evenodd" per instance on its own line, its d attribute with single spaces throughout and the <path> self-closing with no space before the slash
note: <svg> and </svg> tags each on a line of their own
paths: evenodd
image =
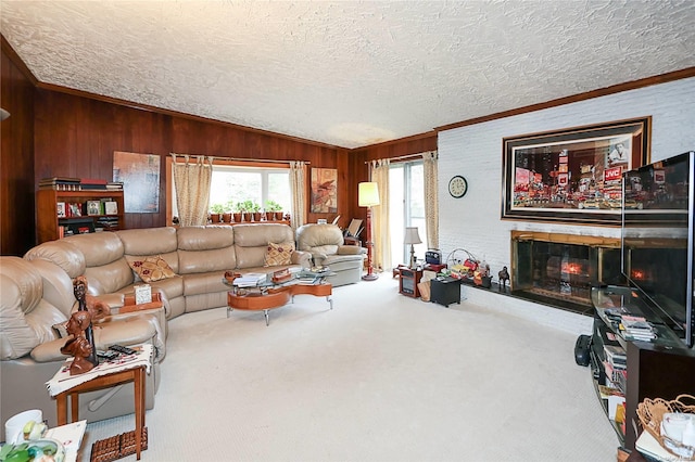
<svg viewBox="0 0 695 462">
<path fill-rule="evenodd" d="M 649 432 L 649 434 L 659 441 L 659 445 L 661 445 L 664 449 L 680 458 L 683 458 L 683 453 L 690 452 L 693 454 L 695 448 L 692 446 L 685 446 L 666 435 L 661 435 L 661 420 L 664 419 L 664 414 L 669 412 L 695 414 L 695 397 L 692 395 L 679 395 L 671 401 L 667 401 L 661 398 L 645 398 L 644 401 L 637 405 L 637 416 L 640 418 L 642 427 Z M 695 459 L 691 455 L 690 459 L 680 460 Z"/>
</svg>

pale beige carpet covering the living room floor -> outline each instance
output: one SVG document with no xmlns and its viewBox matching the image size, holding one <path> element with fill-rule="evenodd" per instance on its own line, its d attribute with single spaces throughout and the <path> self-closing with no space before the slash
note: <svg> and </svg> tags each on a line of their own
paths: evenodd
<svg viewBox="0 0 695 462">
<path fill-rule="evenodd" d="M 146 461 L 615 461 L 576 335 L 397 282 L 169 322 Z M 91 444 L 132 415 L 88 425 Z M 135 460 L 129 457 L 124 460 Z"/>
</svg>

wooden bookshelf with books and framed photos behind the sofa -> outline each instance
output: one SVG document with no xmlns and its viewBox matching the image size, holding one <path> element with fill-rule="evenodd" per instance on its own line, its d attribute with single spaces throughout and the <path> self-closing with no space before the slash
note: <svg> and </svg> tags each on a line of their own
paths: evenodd
<svg viewBox="0 0 695 462">
<path fill-rule="evenodd" d="M 58 191 L 41 189 L 37 192 L 36 197 L 37 240 L 39 244 L 61 239 L 61 227 L 63 227 L 64 235 L 70 235 L 71 232 L 73 234 L 85 231 L 94 232 L 98 228 L 113 231 L 124 227 L 123 190 Z M 99 202 L 100 209 L 98 215 L 88 215 L 89 201 Z M 112 209 L 105 209 L 106 202 L 115 203 L 115 213 Z M 63 204 L 64 217 L 59 217 L 59 204 Z M 73 208 L 79 209 L 79 216 L 70 216 L 71 205 L 73 205 Z M 113 207 L 113 205 L 109 204 L 110 207 Z"/>
</svg>

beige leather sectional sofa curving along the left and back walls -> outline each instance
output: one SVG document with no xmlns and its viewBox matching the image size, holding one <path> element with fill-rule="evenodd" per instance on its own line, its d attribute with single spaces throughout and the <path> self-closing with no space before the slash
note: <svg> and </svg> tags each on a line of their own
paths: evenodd
<svg viewBox="0 0 695 462">
<path fill-rule="evenodd" d="M 41 409 L 55 424 L 55 403 L 45 383 L 65 359 L 54 325 L 75 307 L 73 279 L 86 275 L 89 293 L 112 307 L 112 316 L 94 325 L 98 349 L 112 344 L 155 346 L 155 363 L 147 383 L 147 407 L 154 406 L 160 362 L 165 356 L 166 322 L 186 312 L 224 307 L 226 270 L 270 272 L 290 266 L 311 267 L 312 256 L 293 252 L 287 266 L 264 266 L 269 243 L 294 243 L 280 223 L 150 228 L 70 236 L 31 248 L 24 258 L 0 257 L 0 418 L 5 422 L 26 409 Z M 161 257 L 173 274 L 149 282 L 164 308 L 119 313 L 125 295 L 142 281 L 131 264 Z M 132 386 L 86 394 L 80 418 L 89 421 L 132 412 Z M 0 427 L 0 432 L 4 432 Z M 0 435 L 0 440 L 4 435 Z"/>
</svg>

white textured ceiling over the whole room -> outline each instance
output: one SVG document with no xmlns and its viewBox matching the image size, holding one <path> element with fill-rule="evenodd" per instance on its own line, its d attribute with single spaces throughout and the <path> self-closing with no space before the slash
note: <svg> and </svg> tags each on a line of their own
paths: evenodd
<svg viewBox="0 0 695 462">
<path fill-rule="evenodd" d="M 12 1 L 39 81 L 358 147 L 695 66 L 695 1 Z"/>
</svg>

